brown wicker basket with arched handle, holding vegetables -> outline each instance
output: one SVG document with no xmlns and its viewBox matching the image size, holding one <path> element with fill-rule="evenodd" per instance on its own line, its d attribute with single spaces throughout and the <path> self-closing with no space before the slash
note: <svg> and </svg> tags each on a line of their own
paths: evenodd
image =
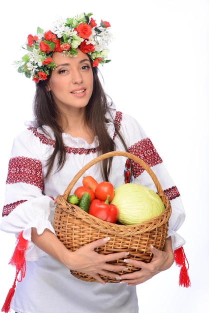
<svg viewBox="0 0 209 313">
<path fill-rule="evenodd" d="M 70 194 L 75 182 L 84 174 L 84 172 L 95 163 L 111 157 L 111 156 L 125 156 L 139 163 L 152 178 L 157 194 L 160 196 L 165 210 L 157 217 L 144 221 L 137 225 L 120 225 L 103 221 L 94 217 L 77 205 L 70 204 L 66 201 L 68 194 Z M 63 195 L 58 195 L 55 199 L 56 209 L 54 215 L 54 229 L 59 240 L 71 251 L 75 251 L 79 247 L 100 239 L 106 236 L 110 240 L 103 246 L 95 249 L 98 253 L 108 254 L 112 252 L 128 251 L 127 257 L 136 260 L 149 262 L 152 258 L 149 246 L 152 244 L 155 248 L 162 250 L 167 236 L 168 219 L 171 214 L 171 205 L 159 184 L 156 175 L 150 167 L 137 156 L 124 151 L 111 151 L 104 153 L 90 162 L 88 162 L 82 169 L 80 169 L 74 176 L 72 181 L 67 186 Z M 126 257 L 126 258 L 127 258 Z M 138 267 L 126 264 L 123 259 L 115 260 L 112 264 L 125 265 L 126 271 L 119 271 L 118 274 L 130 273 L 139 270 Z M 85 280 L 96 281 L 95 278 L 75 270 L 71 270 L 73 276 Z M 118 282 L 118 280 L 102 276 L 106 282 Z"/>
</svg>

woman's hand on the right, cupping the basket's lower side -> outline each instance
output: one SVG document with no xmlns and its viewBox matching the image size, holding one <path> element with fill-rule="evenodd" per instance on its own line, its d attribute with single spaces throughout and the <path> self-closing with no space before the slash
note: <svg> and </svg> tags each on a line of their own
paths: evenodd
<svg viewBox="0 0 209 313">
<path fill-rule="evenodd" d="M 133 273 L 120 275 L 121 283 L 127 283 L 128 285 L 142 283 L 172 265 L 174 256 L 170 237 L 166 239 L 163 251 L 157 250 L 153 246 L 150 246 L 150 251 L 153 254 L 150 263 L 144 263 L 130 258 L 124 260 L 125 263 L 141 269 Z"/>
</svg>

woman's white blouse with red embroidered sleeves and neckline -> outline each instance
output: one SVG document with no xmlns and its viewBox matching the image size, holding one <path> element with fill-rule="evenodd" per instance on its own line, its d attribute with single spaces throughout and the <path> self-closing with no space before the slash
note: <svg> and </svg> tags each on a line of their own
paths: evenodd
<svg viewBox="0 0 209 313">
<path fill-rule="evenodd" d="M 129 152 L 142 158 L 156 174 L 172 205 L 168 236 L 172 237 L 173 250 L 184 244 L 176 232 L 184 220 L 184 209 L 177 187 L 164 167 L 151 140 L 138 122 L 127 114 L 112 109 L 117 127 L 125 138 Z M 113 122 L 106 124 L 114 139 L 116 150 L 124 150 L 115 133 Z M 63 194 L 72 177 L 88 161 L 97 156 L 97 138 L 88 144 L 82 138 L 62 134 L 66 162 L 62 169 L 44 180 L 45 162 L 54 148 L 54 137 L 46 126 L 43 132 L 32 124 L 13 142 L 6 180 L 5 203 L 0 229 L 16 236 L 23 230 L 28 240 L 26 251 L 26 274 L 17 283 L 11 308 L 19 313 L 136 313 L 138 311 L 136 289 L 120 283 L 86 282 L 74 278 L 70 271 L 51 256 L 37 248 L 31 241 L 31 227 L 40 234 L 45 228 L 53 229 L 54 201 Z M 47 134 L 46 134 L 47 133 Z M 126 158 L 115 156 L 109 181 L 114 187 L 124 183 Z M 98 165 L 90 167 L 86 175 L 102 181 Z M 55 168 L 54 168 L 55 169 Z M 150 176 L 138 164 L 133 163 L 134 182 L 156 191 Z M 80 178 L 73 190 L 81 185 Z"/>
</svg>

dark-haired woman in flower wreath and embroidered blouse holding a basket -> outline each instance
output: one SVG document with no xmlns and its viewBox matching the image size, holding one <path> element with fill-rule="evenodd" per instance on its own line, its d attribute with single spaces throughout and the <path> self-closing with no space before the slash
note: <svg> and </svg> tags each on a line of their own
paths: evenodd
<svg viewBox="0 0 209 313">
<path fill-rule="evenodd" d="M 169 268 L 173 250 L 184 244 L 176 233 L 184 220 L 177 188 L 137 121 L 116 111 L 102 89 L 97 65 L 107 62 L 109 23 L 101 21 L 97 26 L 90 15 L 58 21 L 53 31 L 38 28 L 37 36 L 28 36 L 28 54 L 19 65 L 19 71 L 36 82 L 36 93 L 34 122 L 14 139 L 8 166 L 0 229 L 15 233 L 17 245 L 20 241 L 26 245 L 21 264 L 16 262 L 19 282 L 14 292 L 16 274 L 3 311 L 8 311 L 12 298 L 11 308 L 18 313 L 138 312 L 135 285 Z M 94 248 L 108 238 L 71 252 L 54 235 L 53 199 L 84 164 L 111 150 L 127 150 L 146 159 L 170 198 L 168 237 L 163 251 L 150 246 L 149 264 L 125 259 L 127 252 L 96 253 Z M 117 187 L 124 183 L 125 163 L 124 157 L 115 156 L 86 174 Z M 148 175 L 136 166 L 133 179 L 155 190 Z M 79 185 L 81 180 L 74 189 Z M 124 258 L 124 266 L 108 263 L 119 258 Z M 141 270 L 119 276 L 116 271 L 125 270 L 126 263 Z M 98 283 L 77 279 L 69 269 L 87 273 Z M 105 283 L 100 274 L 120 283 Z"/>
</svg>

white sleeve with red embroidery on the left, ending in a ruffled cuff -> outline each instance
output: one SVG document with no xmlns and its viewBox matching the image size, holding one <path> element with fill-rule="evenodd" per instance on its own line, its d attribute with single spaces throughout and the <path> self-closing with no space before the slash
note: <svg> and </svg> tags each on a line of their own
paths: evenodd
<svg viewBox="0 0 209 313">
<path fill-rule="evenodd" d="M 45 253 L 31 241 L 31 227 L 41 234 L 45 228 L 53 233 L 53 196 L 44 194 L 43 164 L 48 156 L 31 131 L 25 129 L 13 141 L 8 164 L 5 201 L 0 229 L 14 233 L 22 232 L 28 240 L 27 260 L 36 260 Z"/>
</svg>

